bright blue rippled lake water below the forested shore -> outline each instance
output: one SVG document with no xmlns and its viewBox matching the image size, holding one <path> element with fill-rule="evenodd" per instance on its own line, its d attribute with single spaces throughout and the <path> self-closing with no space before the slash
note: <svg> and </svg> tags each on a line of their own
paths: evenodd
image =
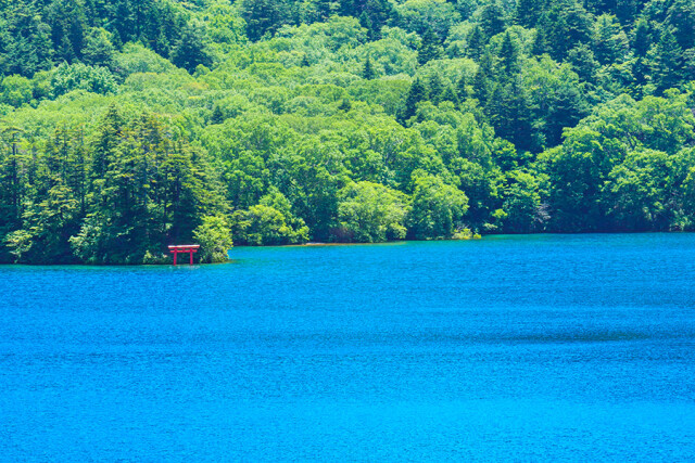
<svg viewBox="0 0 695 463">
<path fill-rule="evenodd" d="M 2 461 L 695 460 L 695 235 L 0 267 Z"/>
</svg>

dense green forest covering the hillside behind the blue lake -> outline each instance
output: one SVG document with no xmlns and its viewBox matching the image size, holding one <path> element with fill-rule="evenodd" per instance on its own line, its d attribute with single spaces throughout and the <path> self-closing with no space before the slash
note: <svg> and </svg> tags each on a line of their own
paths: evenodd
<svg viewBox="0 0 695 463">
<path fill-rule="evenodd" d="M 695 0 L 0 0 L 0 262 L 695 229 Z"/>
</svg>

